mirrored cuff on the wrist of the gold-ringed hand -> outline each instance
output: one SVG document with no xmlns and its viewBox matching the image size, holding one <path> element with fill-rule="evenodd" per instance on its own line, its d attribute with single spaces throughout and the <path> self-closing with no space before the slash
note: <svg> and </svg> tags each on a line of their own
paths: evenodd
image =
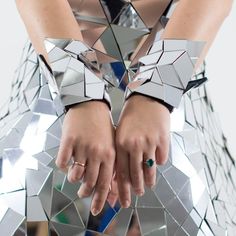
<svg viewBox="0 0 236 236">
<path fill-rule="evenodd" d="M 92 48 L 79 40 L 46 38 L 50 66 L 40 55 L 40 69 L 54 92 L 69 107 L 91 100 L 105 101 L 111 109 L 105 81 Z"/>
</svg>

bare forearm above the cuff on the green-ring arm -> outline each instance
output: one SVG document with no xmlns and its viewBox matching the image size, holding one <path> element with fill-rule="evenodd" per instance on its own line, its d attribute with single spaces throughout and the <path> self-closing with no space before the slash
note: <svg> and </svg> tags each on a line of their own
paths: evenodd
<svg viewBox="0 0 236 236">
<path fill-rule="evenodd" d="M 205 58 L 221 24 L 231 10 L 232 0 L 180 0 L 162 39 L 205 41 L 197 66 Z"/>
</svg>

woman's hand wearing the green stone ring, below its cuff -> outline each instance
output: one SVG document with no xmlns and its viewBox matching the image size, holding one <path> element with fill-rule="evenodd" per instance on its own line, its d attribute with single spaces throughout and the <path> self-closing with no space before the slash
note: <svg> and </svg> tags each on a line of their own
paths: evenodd
<svg viewBox="0 0 236 236">
<path fill-rule="evenodd" d="M 143 95 L 133 95 L 125 103 L 116 130 L 117 183 L 122 207 L 131 203 L 131 187 L 144 194 L 144 185 L 155 185 L 155 165 L 143 161 L 152 158 L 164 164 L 169 150 L 169 110 Z"/>
</svg>

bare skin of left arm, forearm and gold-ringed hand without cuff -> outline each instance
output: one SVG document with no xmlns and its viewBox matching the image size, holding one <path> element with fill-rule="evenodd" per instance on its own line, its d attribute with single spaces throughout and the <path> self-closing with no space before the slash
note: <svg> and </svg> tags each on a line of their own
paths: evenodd
<svg viewBox="0 0 236 236">
<path fill-rule="evenodd" d="M 67 1 L 17 0 L 16 3 L 35 50 L 46 59 L 45 37 L 82 39 Z M 86 170 L 77 165 L 70 167 L 68 179 L 74 183 L 84 176 L 78 191 L 80 197 L 89 196 L 95 190 L 91 211 L 96 215 L 107 199 L 115 162 L 114 127 L 104 102 L 86 102 L 67 112 L 57 166 L 65 169 L 72 155 L 87 167 Z"/>
</svg>

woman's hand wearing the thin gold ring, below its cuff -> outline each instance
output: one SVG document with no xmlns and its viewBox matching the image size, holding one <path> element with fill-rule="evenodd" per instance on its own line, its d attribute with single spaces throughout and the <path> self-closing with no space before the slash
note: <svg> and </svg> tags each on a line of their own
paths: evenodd
<svg viewBox="0 0 236 236">
<path fill-rule="evenodd" d="M 94 190 L 91 211 L 97 215 L 107 199 L 115 162 L 114 127 L 104 102 L 80 103 L 66 113 L 56 165 L 66 168 L 72 156 L 86 168 L 70 166 L 68 180 L 83 178 L 79 197 L 88 197 Z"/>
</svg>

